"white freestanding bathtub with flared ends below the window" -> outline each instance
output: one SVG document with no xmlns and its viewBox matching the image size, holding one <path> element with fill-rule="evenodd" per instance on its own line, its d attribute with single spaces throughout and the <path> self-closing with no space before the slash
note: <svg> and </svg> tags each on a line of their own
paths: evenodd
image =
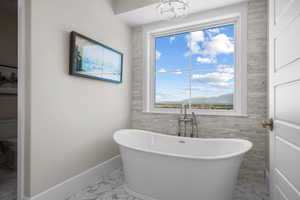
<svg viewBox="0 0 300 200">
<path fill-rule="evenodd" d="M 242 139 L 199 139 L 124 129 L 119 144 L 127 192 L 144 200 L 232 200 Z"/>
</svg>

